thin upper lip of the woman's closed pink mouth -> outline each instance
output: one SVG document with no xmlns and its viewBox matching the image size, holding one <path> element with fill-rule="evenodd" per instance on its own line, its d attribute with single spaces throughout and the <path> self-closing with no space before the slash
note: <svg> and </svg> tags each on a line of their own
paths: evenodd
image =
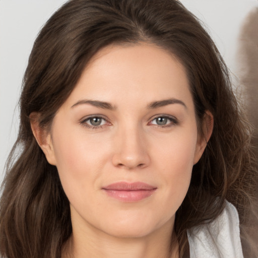
<svg viewBox="0 0 258 258">
<path fill-rule="evenodd" d="M 153 190 L 157 187 L 144 182 L 116 182 L 102 187 L 105 190 L 120 190 L 120 191 L 138 191 L 138 190 Z"/>
</svg>

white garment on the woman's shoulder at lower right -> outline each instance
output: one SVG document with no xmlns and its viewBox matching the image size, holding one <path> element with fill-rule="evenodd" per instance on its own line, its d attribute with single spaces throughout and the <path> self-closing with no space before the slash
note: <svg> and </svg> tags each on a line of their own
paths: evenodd
<svg viewBox="0 0 258 258">
<path fill-rule="evenodd" d="M 236 208 L 226 203 L 212 223 L 187 230 L 190 258 L 243 258 Z"/>
</svg>

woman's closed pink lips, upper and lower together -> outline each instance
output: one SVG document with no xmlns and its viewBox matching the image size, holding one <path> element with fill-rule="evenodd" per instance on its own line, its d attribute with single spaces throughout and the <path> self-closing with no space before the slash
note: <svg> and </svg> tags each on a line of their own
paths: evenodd
<svg viewBox="0 0 258 258">
<path fill-rule="evenodd" d="M 122 202 L 138 202 L 150 197 L 157 187 L 144 182 L 117 182 L 102 187 L 109 197 Z"/>
</svg>

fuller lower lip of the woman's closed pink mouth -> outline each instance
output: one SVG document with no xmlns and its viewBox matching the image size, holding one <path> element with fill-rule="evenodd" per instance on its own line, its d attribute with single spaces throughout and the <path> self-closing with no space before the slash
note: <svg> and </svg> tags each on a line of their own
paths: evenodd
<svg viewBox="0 0 258 258">
<path fill-rule="evenodd" d="M 138 202 L 147 197 L 150 197 L 155 189 L 150 190 L 107 190 L 104 189 L 108 196 L 122 202 Z"/>
</svg>

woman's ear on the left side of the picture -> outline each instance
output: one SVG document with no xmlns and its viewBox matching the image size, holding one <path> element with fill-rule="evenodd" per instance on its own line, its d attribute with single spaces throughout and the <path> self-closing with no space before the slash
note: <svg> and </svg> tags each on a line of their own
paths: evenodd
<svg viewBox="0 0 258 258">
<path fill-rule="evenodd" d="M 48 163 L 51 165 L 56 165 L 50 132 L 48 132 L 46 128 L 39 125 L 39 117 L 40 113 L 38 112 L 32 112 L 30 114 L 30 125 L 33 135 L 39 147 L 44 152 Z"/>
</svg>

